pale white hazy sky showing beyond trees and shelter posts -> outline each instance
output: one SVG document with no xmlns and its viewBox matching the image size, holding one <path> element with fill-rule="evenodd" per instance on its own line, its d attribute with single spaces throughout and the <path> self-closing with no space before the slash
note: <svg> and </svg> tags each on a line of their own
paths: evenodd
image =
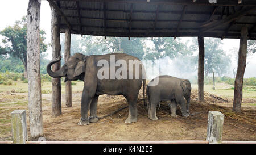
<svg viewBox="0 0 256 155">
<path fill-rule="evenodd" d="M 45 0 L 41 1 L 41 13 L 40 13 L 40 29 L 46 31 L 46 42 L 51 42 L 51 10 L 49 3 Z M 8 0 L 0 1 L 0 30 L 6 26 L 12 26 L 16 20 L 20 20 L 22 16 L 27 14 L 28 0 Z M 189 39 L 185 37 L 184 40 Z M 225 52 L 229 52 L 234 47 L 239 47 L 238 39 L 224 39 L 222 40 L 222 49 Z M 51 58 L 51 48 L 48 48 L 48 58 Z M 250 58 L 249 68 L 253 68 L 253 73 L 246 70 L 245 77 L 256 77 L 256 56 Z"/>
</svg>

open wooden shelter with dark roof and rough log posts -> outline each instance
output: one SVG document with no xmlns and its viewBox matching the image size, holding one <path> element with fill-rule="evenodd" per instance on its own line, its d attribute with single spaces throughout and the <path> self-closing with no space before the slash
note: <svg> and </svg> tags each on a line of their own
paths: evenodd
<svg viewBox="0 0 256 155">
<path fill-rule="evenodd" d="M 256 39 L 254 0 L 48 0 L 52 11 L 52 58 L 60 56 L 60 33 L 65 33 L 65 60 L 70 56 L 71 34 L 117 37 L 196 36 L 199 42 L 199 100 L 204 100 L 204 37 L 241 39 L 234 91 L 234 108 L 241 111 L 242 82 L 246 65 L 247 39 Z M 217 2 L 217 3 L 215 3 Z M 39 67 L 40 1 L 28 5 L 28 87 L 30 128 L 42 124 Z M 31 40 L 30 40 L 31 38 Z M 35 39 L 35 40 L 34 40 Z M 53 66 L 53 70 L 60 64 Z M 32 89 L 30 83 L 35 83 Z M 70 85 L 69 84 L 66 84 Z M 60 79 L 52 79 L 53 116 L 61 114 Z M 36 91 L 36 93 L 35 93 Z M 67 106 L 72 105 L 71 87 Z M 34 102 L 36 100 L 36 102 Z M 34 114 L 36 113 L 36 114 Z M 33 116 L 32 116 L 33 115 Z M 36 115 L 36 119 L 35 116 Z M 34 118 L 32 118 L 34 117 Z M 35 124 L 35 125 L 33 125 Z M 43 128 L 43 125 L 40 126 Z M 31 129 L 31 136 L 42 129 Z"/>
</svg>

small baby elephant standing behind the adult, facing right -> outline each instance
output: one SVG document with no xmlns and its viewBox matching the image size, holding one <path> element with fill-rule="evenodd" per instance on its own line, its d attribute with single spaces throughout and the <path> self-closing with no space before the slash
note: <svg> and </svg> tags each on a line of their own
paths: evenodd
<svg viewBox="0 0 256 155">
<path fill-rule="evenodd" d="M 153 81 L 157 81 L 156 78 L 159 78 L 158 85 L 150 85 Z M 171 76 L 159 76 L 156 78 L 152 79 L 147 86 L 148 118 L 158 120 L 156 117 L 156 105 L 160 104 L 161 101 L 167 100 L 171 100 L 172 117 L 177 117 L 177 104 L 180 105 L 182 116 L 188 117 L 191 95 L 191 84 L 188 79 Z"/>
</svg>

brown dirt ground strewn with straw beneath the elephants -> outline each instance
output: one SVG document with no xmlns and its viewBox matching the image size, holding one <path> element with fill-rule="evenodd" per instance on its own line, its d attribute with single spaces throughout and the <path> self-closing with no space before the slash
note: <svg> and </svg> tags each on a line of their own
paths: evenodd
<svg viewBox="0 0 256 155">
<path fill-rule="evenodd" d="M 43 126 L 46 140 L 69 140 L 69 141 L 106 141 L 106 140 L 205 140 L 207 134 L 208 111 L 220 111 L 225 115 L 222 140 L 256 141 L 256 100 L 243 100 L 242 114 L 232 112 L 232 99 L 219 98 L 205 93 L 205 102 L 197 102 L 196 90 L 192 91 L 190 110 L 192 113 L 188 118 L 181 117 L 180 109 L 177 110 L 177 118 L 172 118 L 167 102 L 161 103 L 157 111 L 159 120 L 150 120 L 147 110 L 143 106 L 142 94 L 140 93 L 137 108 L 138 122 L 126 124 L 128 108 L 116 114 L 100 119 L 97 123 L 79 126 L 81 91 L 73 91 L 73 105 L 65 106 L 65 95 L 62 96 L 62 115 L 56 118 L 51 116 L 51 94 L 42 94 Z M 6 99 L 10 101 L 20 100 L 20 104 L 5 107 Z M 14 109 L 27 109 L 23 103 L 27 99 L 27 93 L 0 93 L 0 120 L 10 118 L 10 112 Z M 8 100 L 7 100 L 8 101 Z M 10 103 L 10 102 L 9 102 Z M 122 96 L 101 95 L 98 100 L 98 116 L 104 116 L 127 106 Z M 27 123 L 28 111 L 27 111 Z M 1 131 L 0 140 L 11 140 L 10 122 L 2 122 L 5 125 Z M 28 133 L 29 126 L 28 126 Z"/>
</svg>

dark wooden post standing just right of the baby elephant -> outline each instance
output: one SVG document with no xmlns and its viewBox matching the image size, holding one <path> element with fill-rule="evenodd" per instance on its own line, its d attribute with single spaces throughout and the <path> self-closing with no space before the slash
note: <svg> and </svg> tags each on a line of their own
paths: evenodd
<svg viewBox="0 0 256 155">
<path fill-rule="evenodd" d="M 204 37 L 198 37 L 199 55 L 198 55 L 198 99 L 204 102 Z"/>
</svg>

